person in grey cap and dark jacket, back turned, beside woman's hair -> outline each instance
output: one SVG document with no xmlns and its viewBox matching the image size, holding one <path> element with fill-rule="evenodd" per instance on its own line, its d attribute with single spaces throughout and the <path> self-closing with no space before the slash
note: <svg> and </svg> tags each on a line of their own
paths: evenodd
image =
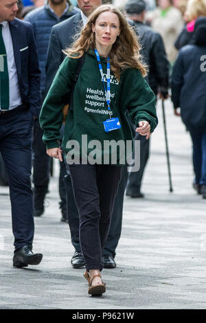
<svg viewBox="0 0 206 323">
<path fill-rule="evenodd" d="M 155 96 L 159 93 L 159 96 L 165 100 L 165 98 L 168 98 L 170 64 L 165 54 L 161 35 L 144 23 L 146 19 L 146 1 L 129 0 L 126 3 L 125 10 L 128 18 L 134 21 L 137 28 L 141 54 L 149 67 L 148 83 Z M 136 172 L 130 172 L 126 195 L 144 197 L 144 194 L 141 193 L 141 181 L 149 157 L 150 139 L 146 140 L 145 137 L 137 133 L 135 140 L 140 142 L 140 168 Z"/>
</svg>

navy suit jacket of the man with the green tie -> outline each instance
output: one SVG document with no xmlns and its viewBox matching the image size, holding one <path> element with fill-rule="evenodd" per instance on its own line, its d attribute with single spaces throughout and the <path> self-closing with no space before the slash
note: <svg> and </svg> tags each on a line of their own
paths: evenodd
<svg viewBox="0 0 206 323">
<path fill-rule="evenodd" d="M 32 25 L 19 19 L 10 21 L 9 25 L 21 100 L 38 117 L 41 108 L 41 71 L 38 68 Z"/>
</svg>

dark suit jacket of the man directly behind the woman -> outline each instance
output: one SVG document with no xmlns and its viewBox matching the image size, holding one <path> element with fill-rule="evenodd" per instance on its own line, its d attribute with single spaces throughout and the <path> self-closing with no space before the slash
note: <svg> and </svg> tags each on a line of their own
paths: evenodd
<svg viewBox="0 0 206 323">
<path fill-rule="evenodd" d="M 71 46 L 76 34 L 80 32 L 82 25 L 82 16 L 78 12 L 74 16 L 71 16 L 71 18 L 52 27 L 47 52 L 45 94 L 49 91 L 58 67 L 65 58 L 62 49 Z"/>
</svg>

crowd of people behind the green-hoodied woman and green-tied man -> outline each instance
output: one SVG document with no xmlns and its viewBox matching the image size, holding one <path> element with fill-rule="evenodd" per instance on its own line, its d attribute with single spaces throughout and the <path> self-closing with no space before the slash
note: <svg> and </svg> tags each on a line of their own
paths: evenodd
<svg viewBox="0 0 206 323">
<path fill-rule="evenodd" d="M 87 2 L 87 0 L 85 0 Z M 16 17 L 29 21 L 41 69 L 42 103 L 60 63 L 65 58 L 62 49 L 73 42 L 73 29 L 69 23 L 84 23 L 87 10 L 84 0 L 19 0 Z M 88 0 L 89 1 L 89 0 Z M 95 5 L 102 1 L 93 0 Z M 180 115 L 192 137 L 194 189 L 206 199 L 206 1 L 205 0 L 113 0 L 113 3 L 130 19 L 139 35 L 141 54 L 149 67 L 148 83 L 157 98 L 166 100 L 172 88 L 174 113 Z M 82 14 L 83 12 L 83 14 Z M 73 19 L 71 21 L 71 19 Z M 60 23 L 60 24 L 59 24 Z M 59 24 L 59 25 L 58 25 Z M 69 27 L 70 26 L 70 27 Z M 67 33 L 64 32 L 67 30 Z M 198 59 L 197 59 L 198 58 Z M 64 131 L 62 127 L 62 132 Z M 45 197 L 52 172 L 51 159 L 42 142 L 43 132 L 38 120 L 33 127 L 33 196 L 34 216 L 45 211 Z M 122 228 L 124 192 L 130 197 L 144 197 L 141 181 L 149 156 L 150 140 L 135 135 L 141 143 L 141 166 L 138 172 L 123 170 L 113 209 L 111 230 L 104 246 L 104 267 L 114 268 L 115 249 Z M 0 183 L 7 185 L 3 161 L 0 161 Z M 69 222 L 75 254 L 74 268 L 84 266 L 78 237 L 78 211 L 73 199 L 71 178 L 64 162 L 60 162 L 59 175 L 61 221 Z"/>
</svg>

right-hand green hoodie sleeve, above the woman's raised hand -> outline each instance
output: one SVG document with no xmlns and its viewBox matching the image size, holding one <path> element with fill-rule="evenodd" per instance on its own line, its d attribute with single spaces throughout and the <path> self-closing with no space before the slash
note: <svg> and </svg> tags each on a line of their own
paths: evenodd
<svg viewBox="0 0 206 323">
<path fill-rule="evenodd" d="M 155 94 L 138 69 L 126 70 L 120 104 L 124 104 L 135 126 L 139 126 L 139 121 L 146 120 L 151 126 L 151 132 L 155 130 L 158 123 Z"/>
</svg>

